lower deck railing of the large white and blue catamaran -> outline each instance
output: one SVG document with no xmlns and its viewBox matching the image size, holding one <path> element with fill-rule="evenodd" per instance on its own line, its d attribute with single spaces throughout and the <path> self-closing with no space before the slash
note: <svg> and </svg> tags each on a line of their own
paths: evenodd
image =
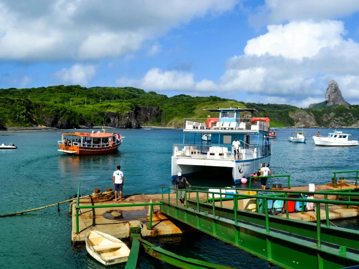
<svg viewBox="0 0 359 269">
<path fill-rule="evenodd" d="M 238 153 L 241 160 L 259 158 L 271 153 L 271 145 L 242 144 L 236 151 L 236 154 Z M 231 159 L 234 157 L 234 148 L 231 144 L 173 144 L 172 156 L 196 159 Z"/>
</svg>

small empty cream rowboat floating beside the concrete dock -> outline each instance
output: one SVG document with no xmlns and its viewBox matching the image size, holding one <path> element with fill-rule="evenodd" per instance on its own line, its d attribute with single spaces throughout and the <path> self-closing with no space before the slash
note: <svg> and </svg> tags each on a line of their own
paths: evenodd
<svg viewBox="0 0 359 269">
<path fill-rule="evenodd" d="M 86 250 L 106 266 L 126 262 L 130 253 L 127 245 L 120 239 L 94 230 L 86 234 Z"/>
</svg>

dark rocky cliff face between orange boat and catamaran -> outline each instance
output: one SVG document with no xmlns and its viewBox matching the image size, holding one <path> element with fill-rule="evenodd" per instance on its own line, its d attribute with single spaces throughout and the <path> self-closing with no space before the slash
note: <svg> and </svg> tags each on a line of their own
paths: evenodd
<svg viewBox="0 0 359 269">
<path fill-rule="evenodd" d="M 153 106 L 135 106 L 128 113 L 106 112 L 110 122 L 108 126 L 119 129 L 141 128 L 141 122 L 156 121 L 162 116 L 162 110 Z"/>
</svg>

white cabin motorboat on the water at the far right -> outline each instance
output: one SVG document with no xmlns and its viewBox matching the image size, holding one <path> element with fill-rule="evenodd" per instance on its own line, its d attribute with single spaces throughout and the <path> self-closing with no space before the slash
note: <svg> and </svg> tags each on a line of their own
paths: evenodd
<svg viewBox="0 0 359 269">
<path fill-rule="evenodd" d="M 341 131 L 335 131 L 325 136 L 312 136 L 316 146 L 320 147 L 353 147 L 358 146 L 359 142 L 356 140 L 348 140 L 351 134 L 343 134 Z"/>
</svg>

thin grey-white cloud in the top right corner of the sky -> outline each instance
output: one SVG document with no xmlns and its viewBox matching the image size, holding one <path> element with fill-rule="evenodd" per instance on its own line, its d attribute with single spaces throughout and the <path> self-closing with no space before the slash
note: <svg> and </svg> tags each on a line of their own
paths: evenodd
<svg viewBox="0 0 359 269">
<path fill-rule="evenodd" d="M 249 20 L 253 25 L 263 25 L 314 18 L 335 19 L 358 11 L 358 0 L 265 0 Z"/>
</svg>

